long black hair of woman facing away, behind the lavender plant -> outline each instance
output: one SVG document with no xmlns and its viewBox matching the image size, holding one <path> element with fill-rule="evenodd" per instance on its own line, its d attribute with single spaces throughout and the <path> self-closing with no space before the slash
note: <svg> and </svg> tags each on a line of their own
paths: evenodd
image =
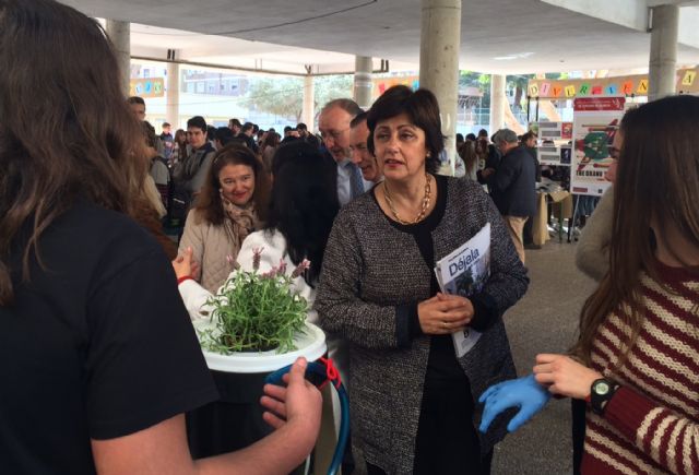
<svg viewBox="0 0 699 475">
<path fill-rule="evenodd" d="M 340 210 L 337 188 L 317 147 L 300 141 L 282 145 L 274 154 L 274 185 L 266 229 L 286 238 L 288 256 L 310 269 L 305 280 L 318 282 L 333 219 Z"/>
</svg>

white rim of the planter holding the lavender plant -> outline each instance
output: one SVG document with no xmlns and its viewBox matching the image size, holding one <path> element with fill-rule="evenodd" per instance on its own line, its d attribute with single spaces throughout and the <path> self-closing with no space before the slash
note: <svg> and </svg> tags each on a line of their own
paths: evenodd
<svg viewBox="0 0 699 475">
<path fill-rule="evenodd" d="M 205 330 L 214 326 L 209 319 L 192 322 L 194 329 Z M 323 356 L 328 349 L 325 334 L 312 323 L 306 322 L 306 332 L 299 332 L 294 337 L 295 351 L 279 354 L 274 349 L 257 353 L 236 353 L 222 355 L 202 348 L 209 369 L 224 372 L 271 372 L 293 364 L 299 356 L 313 361 Z"/>
</svg>

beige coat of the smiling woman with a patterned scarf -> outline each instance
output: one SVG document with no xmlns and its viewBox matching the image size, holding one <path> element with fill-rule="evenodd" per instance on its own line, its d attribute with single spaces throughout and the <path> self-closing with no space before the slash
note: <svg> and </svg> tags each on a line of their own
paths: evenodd
<svg viewBox="0 0 699 475">
<path fill-rule="evenodd" d="M 183 253 L 188 247 L 192 248 L 192 259 L 201 264 L 199 282 L 213 294 L 233 271 L 241 239 L 232 236 L 224 225 L 213 225 L 198 217 L 197 210 L 191 210 L 187 215 L 179 253 Z"/>
</svg>

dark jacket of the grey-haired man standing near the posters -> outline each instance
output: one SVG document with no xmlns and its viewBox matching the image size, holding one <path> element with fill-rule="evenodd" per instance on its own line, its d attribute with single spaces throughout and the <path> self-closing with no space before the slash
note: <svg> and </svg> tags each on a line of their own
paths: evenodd
<svg viewBox="0 0 699 475">
<path fill-rule="evenodd" d="M 536 167 L 521 146 L 509 151 L 495 174 L 488 177 L 490 195 L 502 216 L 533 216 L 536 213 L 534 189 Z"/>
</svg>

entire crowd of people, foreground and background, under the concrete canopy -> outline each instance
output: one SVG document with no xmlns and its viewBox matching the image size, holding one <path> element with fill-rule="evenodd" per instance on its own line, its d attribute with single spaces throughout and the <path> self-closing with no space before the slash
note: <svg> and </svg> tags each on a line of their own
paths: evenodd
<svg viewBox="0 0 699 475">
<path fill-rule="evenodd" d="M 698 98 L 624 117 L 614 186 L 579 249 L 600 281 L 579 340 L 516 379 L 502 317 L 529 285 L 532 133 L 459 140 L 464 176 L 438 175 L 437 99 L 398 85 L 366 111 L 325 104 L 319 136 L 203 117 L 158 136 L 145 102 L 123 99 L 100 26 L 52 0 L 0 1 L 0 61 L 3 473 L 298 467 L 335 416 L 303 358 L 285 385 L 256 382 L 263 409 L 256 396 L 235 417 L 271 428 L 241 446 L 202 452 L 185 417 L 223 392 L 191 320 L 236 266 L 280 261 L 306 269 L 293 287 L 350 392 L 345 473 L 488 474 L 494 447 L 552 395 L 582 420 L 577 471 L 699 471 Z M 483 285 L 443 293 L 437 262 L 486 225 Z M 458 354 L 452 334 L 471 331 Z"/>
</svg>

